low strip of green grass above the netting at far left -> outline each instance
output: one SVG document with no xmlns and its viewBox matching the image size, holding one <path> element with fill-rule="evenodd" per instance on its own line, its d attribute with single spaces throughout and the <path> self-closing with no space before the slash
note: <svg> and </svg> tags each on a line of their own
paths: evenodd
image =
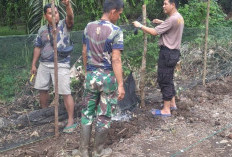
<svg viewBox="0 0 232 157">
<path fill-rule="evenodd" d="M 12 29 L 9 26 L 0 26 L 0 36 L 8 36 L 8 35 L 25 35 L 26 28 L 25 26 L 17 26 L 17 28 Z"/>
</svg>

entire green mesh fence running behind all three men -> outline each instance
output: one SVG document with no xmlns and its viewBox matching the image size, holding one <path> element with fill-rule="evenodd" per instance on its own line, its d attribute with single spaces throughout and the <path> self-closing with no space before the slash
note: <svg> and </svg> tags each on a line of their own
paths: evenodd
<svg viewBox="0 0 232 157">
<path fill-rule="evenodd" d="M 143 52 L 143 33 L 134 34 L 132 25 L 122 26 L 124 30 L 123 64 L 124 73 L 133 71 L 139 74 Z M 71 39 L 75 48 L 71 55 L 71 64 L 80 56 L 82 49 L 82 31 L 72 32 Z M 204 28 L 185 28 L 181 48 L 181 70 L 175 74 L 178 89 L 186 89 L 202 82 Z M 0 95 L 1 97 L 20 92 L 20 88 L 6 92 L 5 84 L 23 86 L 28 80 L 33 56 L 32 36 L 0 37 Z M 207 81 L 232 73 L 232 28 L 209 29 L 209 48 L 207 53 Z M 147 79 L 155 82 L 159 47 L 158 37 L 148 36 Z M 22 76 L 25 73 L 26 77 Z M 12 77 L 14 76 L 14 77 Z M 20 81 L 21 80 L 21 81 Z M 15 83 L 16 82 L 16 83 Z M 5 93 L 4 93 L 5 92 Z"/>
</svg>

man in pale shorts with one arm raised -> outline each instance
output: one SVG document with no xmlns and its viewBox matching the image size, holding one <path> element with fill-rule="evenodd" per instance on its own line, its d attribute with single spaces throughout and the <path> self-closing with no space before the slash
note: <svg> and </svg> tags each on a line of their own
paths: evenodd
<svg viewBox="0 0 232 157">
<path fill-rule="evenodd" d="M 66 6 L 67 16 L 60 20 L 59 12 L 55 7 L 55 22 L 57 25 L 57 48 L 65 48 L 70 45 L 70 31 L 74 24 L 74 15 L 69 0 L 63 0 Z M 44 17 L 48 25 L 42 26 L 34 43 L 34 56 L 32 61 L 31 73 L 36 74 L 35 88 L 40 93 L 40 105 L 42 108 L 48 107 L 50 82 L 54 84 L 54 49 L 52 45 L 52 10 L 51 4 L 44 7 Z M 50 33 L 49 33 L 50 32 Z M 37 71 L 36 63 L 40 58 Z M 68 123 L 64 132 L 72 132 L 76 127 L 74 124 L 74 101 L 70 90 L 70 55 L 58 55 L 58 92 L 63 96 L 64 104 L 68 112 Z M 60 81 L 61 80 L 61 81 Z"/>
</svg>

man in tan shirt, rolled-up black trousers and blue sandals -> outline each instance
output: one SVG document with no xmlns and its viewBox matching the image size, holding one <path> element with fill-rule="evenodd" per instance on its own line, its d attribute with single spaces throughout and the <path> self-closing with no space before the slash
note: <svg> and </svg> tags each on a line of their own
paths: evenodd
<svg viewBox="0 0 232 157">
<path fill-rule="evenodd" d="M 171 110 L 177 109 L 175 102 L 175 87 L 173 83 L 174 68 L 180 57 L 180 45 L 184 29 L 184 19 L 177 11 L 178 0 L 164 0 L 164 13 L 168 15 L 165 21 L 154 19 L 159 24 L 155 28 L 143 26 L 134 21 L 135 27 L 151 35 L 160 35 L 158 83 L 163 95 L 164 106 L 162 110 L 152 110 L 154 116 L 171 116 Z"/>
</svg>

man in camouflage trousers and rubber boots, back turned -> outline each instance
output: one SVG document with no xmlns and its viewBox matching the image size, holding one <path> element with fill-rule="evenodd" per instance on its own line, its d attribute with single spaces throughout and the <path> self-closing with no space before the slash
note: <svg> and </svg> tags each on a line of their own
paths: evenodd
<svg viewBox="0 0 232 157">
<path fill-rule="evenodd" d="M 106 156 L 103 149 L 117 100 L 123 99 L 121 51 L 123 32 L 115 25 L 123 11 L 122 0 L 105 0 L 100 20 L 90 22 L 83 35 L 83 63 L 86 71 L 81 118 L 81 156 L 89 156 L 92 123 L 96 117 L 93 156 Z"/>
</svg>

